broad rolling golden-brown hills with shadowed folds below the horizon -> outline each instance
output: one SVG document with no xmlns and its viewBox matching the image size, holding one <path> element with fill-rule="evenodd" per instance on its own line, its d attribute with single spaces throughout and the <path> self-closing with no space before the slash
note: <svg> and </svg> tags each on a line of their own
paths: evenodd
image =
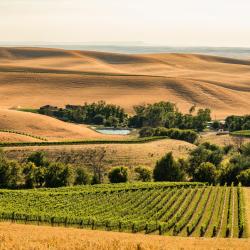
<svg viewBox="0 0 250 250">
<path fill-rule="evenodd" d="M 5 108 L 105 100 L 132 112 L 133 105 L 168 100 L 182 111 L 194 103 L 209 107 L 217 119 L 249 112 L 247 60 L 0 48 L 0 72 L 0 107 Z"/>
</svg>

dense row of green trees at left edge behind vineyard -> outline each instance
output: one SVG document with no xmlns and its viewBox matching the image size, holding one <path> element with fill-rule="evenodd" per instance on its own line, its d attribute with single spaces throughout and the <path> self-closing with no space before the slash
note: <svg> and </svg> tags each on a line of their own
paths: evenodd
<svg viewBox="0 0 250 250">
<path fill-rule="evenodd" d="M 50 162 L 42 152 L 31 154 L 24 163 L 9 160 L 0 152 L 0 188 L 41 188 L 87 184 L 83 168 Z"/>
</svg>

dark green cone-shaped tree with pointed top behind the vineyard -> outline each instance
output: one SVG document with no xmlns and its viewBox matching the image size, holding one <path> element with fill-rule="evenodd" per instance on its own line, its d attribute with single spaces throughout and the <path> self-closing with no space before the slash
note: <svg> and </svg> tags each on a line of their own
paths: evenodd
<svg viewBox="0 0 250 250">
<path fill-rule="evenodd" d="M 167 153 L 161 160 L 157 161 L 153 177 L 155 181 L 182 181 L 184 170 L 174 160 L 172 152 Z"/>
</svg>

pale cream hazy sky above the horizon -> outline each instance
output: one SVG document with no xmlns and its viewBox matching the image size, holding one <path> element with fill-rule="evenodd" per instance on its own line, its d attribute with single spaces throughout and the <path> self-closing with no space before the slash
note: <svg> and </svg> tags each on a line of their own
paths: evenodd
<svg viewBox="0 0 250 250">
<path fill-rule="evenodd" d="M 0 41 L 250 47 L 250 0 L 0 0 Z"/>
</svg>

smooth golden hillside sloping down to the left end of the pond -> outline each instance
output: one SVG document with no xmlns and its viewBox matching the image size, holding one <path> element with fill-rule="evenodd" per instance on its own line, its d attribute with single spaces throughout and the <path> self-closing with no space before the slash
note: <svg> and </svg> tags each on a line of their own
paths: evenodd
<svg viewBox="0 0 250 250">
<path fill-rule="evenodd" d="M 0 129 L 25 132 L 49 141 L 72 139 L 123 139 L 124 136 L 102 135 L 85 125 L 66 123 L 52 117 L 15 110 L 0 109 Z M 4 141 L 0 133 L 0 141 Z M 11 137 L 9 137 L 10 141 Z M 20 141 L 13 138 L 11 141 Z M 30 141 L 29 139 L 25 141 Z"/>
</svg>

